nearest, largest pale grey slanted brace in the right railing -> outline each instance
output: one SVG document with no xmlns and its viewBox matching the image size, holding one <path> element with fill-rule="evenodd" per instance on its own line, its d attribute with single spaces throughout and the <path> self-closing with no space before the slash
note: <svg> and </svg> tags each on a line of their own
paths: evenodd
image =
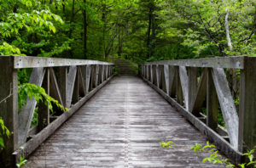
<svg viewBox="0 0 256 168">
<path fill-rule="evenodd" d="M 218 95 L 221 112 L 230 137 L 230 143 L 234 148 L 238 148 L 238 115 L 234 104 L 230 87 L 226 79 L 224 70 L 213 68 L 212 79 Z"/>
</svg>

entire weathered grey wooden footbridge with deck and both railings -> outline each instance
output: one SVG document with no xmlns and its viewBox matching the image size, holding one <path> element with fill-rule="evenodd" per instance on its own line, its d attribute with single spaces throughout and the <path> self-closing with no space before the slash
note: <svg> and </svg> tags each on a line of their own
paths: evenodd
<svg viewBox="0 0 256 168">
<path fill-rule="evenodd" d="M 12 132 L 1 167 L 15 167 L 20 156 L 27 167 L 224 167 L 202 164 L 208 154 L 189 148 L 208 139 L 240 163 L 256 144 L 255 58 L 140 64 L 141 78 L 113 76 L 114 64 L 92 60 L 6 56 L 0 65 L 0 116 Z M 18 113 L 19 69 L 32 69 L 30 82 L 69 111 L 54 107 L 52 114 L 28 99 Z M 238 105 L 225 69 L 240 78 Z M 36 108 L 38 126 L 31 127 Z M 226 129 L 218 126 L 219 109 Z M 162 141 L 177 146 L 161 148 Z"/>
</svg>

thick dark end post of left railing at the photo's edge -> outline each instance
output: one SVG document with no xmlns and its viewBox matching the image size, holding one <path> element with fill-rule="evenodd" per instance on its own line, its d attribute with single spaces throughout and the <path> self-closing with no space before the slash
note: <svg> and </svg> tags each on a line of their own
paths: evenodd
<svg viewBox="0 0 256 168">
<path fill-rule="evenodd" d="M 14 57 L 0 57 L 0 67 L 0 117 L 11 132 L 9 138 L 3 135 L 5 147 L 0 149 L 0 167 L 15 167 L 12 153 L 18 148 L 18 81 Z"/>
</svg>

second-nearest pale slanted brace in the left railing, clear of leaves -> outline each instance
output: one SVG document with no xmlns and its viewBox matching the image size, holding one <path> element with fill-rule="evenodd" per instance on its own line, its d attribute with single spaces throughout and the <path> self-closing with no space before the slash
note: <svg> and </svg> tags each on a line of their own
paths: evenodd
<svg viewBox="0 0 256 168">
<path fill-rule="evenodd" d="M 71 105 L 76 76 L 77 76 L 77 67 L 70 66 L 68 70 L 68 75 L 67 75 L 67 108 L 69 108 Z"/>
</svg>

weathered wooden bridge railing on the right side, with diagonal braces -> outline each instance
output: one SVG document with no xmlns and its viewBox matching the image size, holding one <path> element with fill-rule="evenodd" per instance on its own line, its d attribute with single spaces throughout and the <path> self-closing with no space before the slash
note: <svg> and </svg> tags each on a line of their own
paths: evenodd
<svg viewBox="0 0 256 168">
<path fill-rule="evenodd" d="M 240 80 L 236 101 L 226 76 L 230 70 Z M 256 145 L 256 58 L 158 61 L 141 64 L 139 73 L 236 163 Z M 226 129 L 218 125 L 219 111 Z"/>
</svg>

